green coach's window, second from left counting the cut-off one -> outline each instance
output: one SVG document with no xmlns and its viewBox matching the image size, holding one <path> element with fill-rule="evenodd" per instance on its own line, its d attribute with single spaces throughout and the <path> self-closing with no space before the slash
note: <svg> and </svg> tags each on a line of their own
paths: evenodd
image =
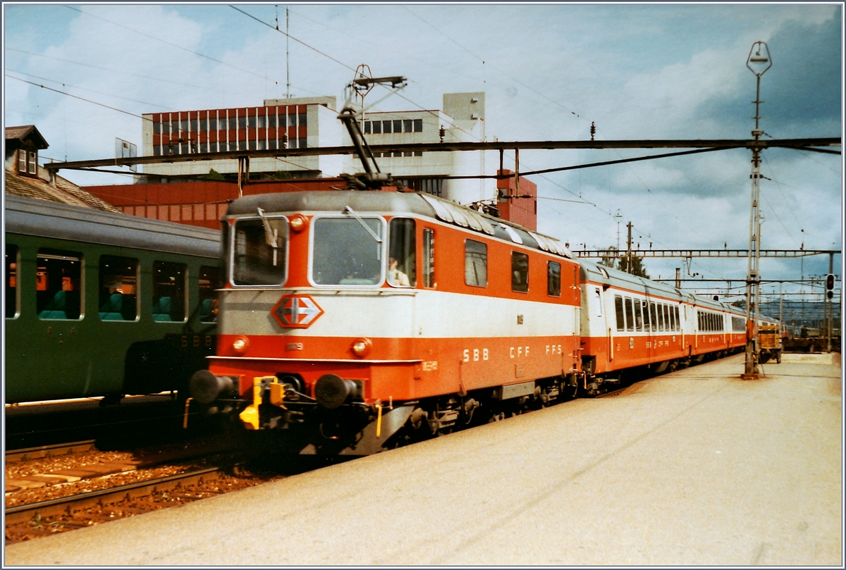
<svg viewBox="0 0 846 570">
<path fill-rule="evenodd" d="M 36 260 L 38 318 L 82 318 L 82 254 L 58 249 L 39 249 Z"/>
</svg>

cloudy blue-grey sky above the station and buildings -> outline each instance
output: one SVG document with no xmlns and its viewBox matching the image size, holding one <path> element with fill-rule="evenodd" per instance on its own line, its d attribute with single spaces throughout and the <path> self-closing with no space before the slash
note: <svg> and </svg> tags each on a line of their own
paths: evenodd
<svg viewBox="0 0 846 570">
<path fill-rule="evenodd" d="M 375 75 L 409 78 L 405 100 L 391 97 L 381 110 L 437 109 L 443 93 L 485 91 L 489 140 L 587 140 L 591 122 L 599 140 L 746 139 L 755 75 L 745 63 L 752 44 L 766 41 L 766 136 L 842 134 L 838 4 L 290 4 L 288 58 L 275 29 L 285 30 L 285 5 L 234 6 L 4 3 L 5 125 L 36 124 L 46 157 L 108 158 L 115 137 L 140 146 L 143 112 L 261 105 L 285 95 L 288 74 L 292 96 L 340 98 L 367 63 Z M 660 151 L 524 151 L 520 170 L 650 152 Z M 840 249 L 841 156 L 763 156 L 762 248 Z M 641 247 L 745 249 L 749 173 L 750 151 L 739 149 L 536 176 L 538 229 L 593 249 L 616 245 L 619 227 L 624 248 L 630 221 Z M 761 273 L 807 278 L 827 263 L 765 259 Z M 672 277 L 675 267 L 685 277 L 747 272 L 742 259 L 645 265 L 652 277 Z M 838 274 L 840 265 L 837 256 Z"/>
</svg>

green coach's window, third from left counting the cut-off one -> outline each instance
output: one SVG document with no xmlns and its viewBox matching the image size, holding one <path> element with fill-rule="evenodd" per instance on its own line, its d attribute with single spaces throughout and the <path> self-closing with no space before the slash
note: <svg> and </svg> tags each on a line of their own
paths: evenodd
<svg viewBox="0 0 846 570">
<path fill-rule="evenodd" d="M 138 260 L 100 256 L 100 318 L 135 321 L 138 317 Z"/>
</svg>

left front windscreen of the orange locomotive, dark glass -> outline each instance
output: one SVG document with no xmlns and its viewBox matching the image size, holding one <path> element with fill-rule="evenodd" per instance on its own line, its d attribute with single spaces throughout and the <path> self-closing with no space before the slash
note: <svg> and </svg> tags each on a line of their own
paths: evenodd
<svg viewBox="0 0 846 570">
<path fill-rule="evenodd" d="M 233 232 L 233 284 L 282 285 L 288 268 L 288 221 L 267 216 L 237 220 Z"/>
</svg>

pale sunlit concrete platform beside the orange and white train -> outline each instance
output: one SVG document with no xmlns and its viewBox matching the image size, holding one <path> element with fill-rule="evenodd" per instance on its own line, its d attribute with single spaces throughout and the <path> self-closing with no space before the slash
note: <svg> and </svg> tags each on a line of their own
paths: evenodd
<svg viewBox="0 0 846 570">
<path fill-rule="evenodd" d="M 842 566 L 840 368 L 742 371 L 703 364 L 5 563 Z"/>
</svg>

